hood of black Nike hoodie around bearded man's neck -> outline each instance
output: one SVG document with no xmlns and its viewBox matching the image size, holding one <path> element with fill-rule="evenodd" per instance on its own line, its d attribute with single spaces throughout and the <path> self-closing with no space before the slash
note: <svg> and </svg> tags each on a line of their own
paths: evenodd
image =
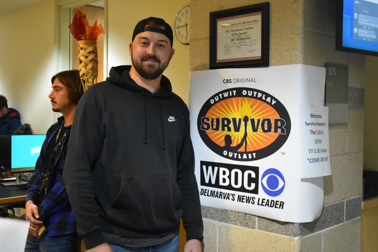
<svg viewBox="0 0 378 252">
<path fill-rule="evenodd" d="M 127 88 L 138 93 L 144 93 L 146 96 L 163 98 L 172 94 L 172 85 L 169 79 L 164 75 L 161 76 L 160 89 L 156 91 L 156 93 L 151 93 L 146 88 L 136 84 L 129 75 L 130 69 L 131 65 L 113 66 L 110 68 L 109 77 L 107 77 L 106 80 L 119 87 Z"/>
</svg>

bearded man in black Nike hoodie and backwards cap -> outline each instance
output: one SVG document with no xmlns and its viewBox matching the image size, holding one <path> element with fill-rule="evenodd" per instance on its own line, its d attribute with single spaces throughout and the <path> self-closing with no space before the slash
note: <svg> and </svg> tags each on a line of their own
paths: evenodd
<svg viewBox="0 0 378 252">
<path fill-rule="evenodd" d="M 201 251 L 203 223 L 189 111 L 163 76 L 172 28 L 155 17 L 135 27 L 131 66 L 85 92 L 71 130 L 64 181 L 77 231 L 90 251 Z"/>
</svg>

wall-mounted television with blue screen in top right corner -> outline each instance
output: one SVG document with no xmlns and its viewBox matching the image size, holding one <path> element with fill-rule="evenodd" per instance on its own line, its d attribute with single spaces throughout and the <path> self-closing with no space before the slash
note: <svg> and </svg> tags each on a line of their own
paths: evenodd
<svg viewBox="0 0 378 252">
<path fill-rule="evenodd" d="M 336 50 L 378 56 L 378 0 L 338 0 Z"/>
</svg>

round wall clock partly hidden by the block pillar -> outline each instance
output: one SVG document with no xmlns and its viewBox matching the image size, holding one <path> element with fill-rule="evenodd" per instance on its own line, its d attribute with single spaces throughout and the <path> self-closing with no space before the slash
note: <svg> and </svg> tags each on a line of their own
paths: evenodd
<svg viewBox="0 0 378 252">
<path fill-rule="evenodd" d="M 176 15 L 175 34 L 180 43 L 189 45 L 190 6 L 185 6 Z"/>
</svg>

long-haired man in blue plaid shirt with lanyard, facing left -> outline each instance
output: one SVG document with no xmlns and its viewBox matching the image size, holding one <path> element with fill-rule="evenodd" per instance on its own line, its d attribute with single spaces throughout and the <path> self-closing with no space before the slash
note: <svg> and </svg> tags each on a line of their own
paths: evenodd
<svg viewBox="0 0 378 252">
<path fill-rule="evenodd" d="M 63 116 L 46 133 L 36 170 L 28 185 L 26 220 L 30 221 L 25 251 L 77 251 L 76 222 L 62 178 L 68 139 L 77 102 L 83 94 L 79 71 L 56 74 L 49 94 L 53 111 Z M 42 237 L 37 230 L 45 228 Z"/>
</svg>

